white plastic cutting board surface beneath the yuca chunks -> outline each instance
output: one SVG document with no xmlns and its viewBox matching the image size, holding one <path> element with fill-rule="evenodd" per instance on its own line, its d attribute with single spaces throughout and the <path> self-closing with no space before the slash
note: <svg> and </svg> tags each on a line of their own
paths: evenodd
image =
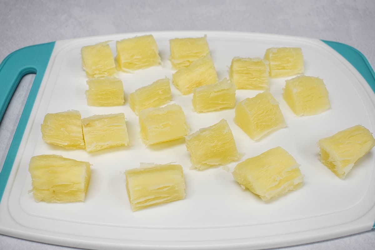
<svg viewBox="0 0 375 250">
<path fill-rule="evenodd" d="M 128 102 L 117 107 L 87 106 L 86 75 L 80 49 L 105 40 L 144 33 L 115 34 L 57 41 L 1 201 L 0 232 L 30 240 L 92 249 L 257 249 L 339 237 L 372 228 L 375 219 L 374 150 L 360 159 L 345 180 L 318 160 L 317 141 L 339 130 L 362 124 L 375 131 L 375 95 L 362 76 L 341 55 L 320 40 L 254 33 L 215 31 L 150 32 L 159 46 L 162 66 L 118 73 L 126 94 L 165 76 L 171 79 L 169 39 L 207 34 L 219 79 L 228 77 L 235 56 L 263 57 L 269 47 L 301 47 L 305 75 L 324 79 L 332 109 L 311 117 L 296 117 L 282 99 L 285 79 L 270 78 L 270 91 L 279 101 L 287 128 L 252 141 L 233 122 L 234 109 L 197 114 L 192 95 L 182 96 L 171 85 L 172 103 L 184 109 L 190 131 L 225 118 L 233 131 L 242 160 L 270 148 L 285 148 L 305 175 L 304 186 L 268 202 L 241 187 L 221 167 L 190 170 L 184 140 L 145 147 L 139 138 L 138 117 Z M 110 43 L 115 52 L 115 43 Z M 237 90 L 237 101 L 260 91 Z M 45 144 L 40 124 L 46 113 L 77 109 L 82 117 L 123 112 L 131 147 L 86 153 Z M 47 204 L 34 202 L 30 158 L 60 154 L 92 163 L 85 202 Z M 177 162 L 184 168 L 186 199 L 132 212 L 124 171 L 140 162 Z M 229 164 L 230 171 L 238 162 Z"/>
</svg>

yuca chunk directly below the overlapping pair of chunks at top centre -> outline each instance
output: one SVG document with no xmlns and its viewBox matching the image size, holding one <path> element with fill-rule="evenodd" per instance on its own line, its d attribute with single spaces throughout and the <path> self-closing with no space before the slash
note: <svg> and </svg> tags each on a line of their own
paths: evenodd
<svg viewBox="0 0 375 250">
<path fill-rule="evenodd" d="M 193 107 L 196 112 L 208 112 L 236 105 L 236 86 L 224 78 L 221 82 L 195 88 Z"/>
</svg>

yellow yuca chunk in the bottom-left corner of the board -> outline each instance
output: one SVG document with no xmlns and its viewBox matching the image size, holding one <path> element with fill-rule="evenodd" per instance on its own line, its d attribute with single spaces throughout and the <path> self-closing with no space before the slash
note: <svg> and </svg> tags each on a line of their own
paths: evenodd
<svg viewBox="0 0 375 250">
<path fill-rule="evenodd" d="M 35 201 L 84 201 L 90 181 L 90 163 L 55 154 L 31 157 L 31 174 Z"/>
</svg>

